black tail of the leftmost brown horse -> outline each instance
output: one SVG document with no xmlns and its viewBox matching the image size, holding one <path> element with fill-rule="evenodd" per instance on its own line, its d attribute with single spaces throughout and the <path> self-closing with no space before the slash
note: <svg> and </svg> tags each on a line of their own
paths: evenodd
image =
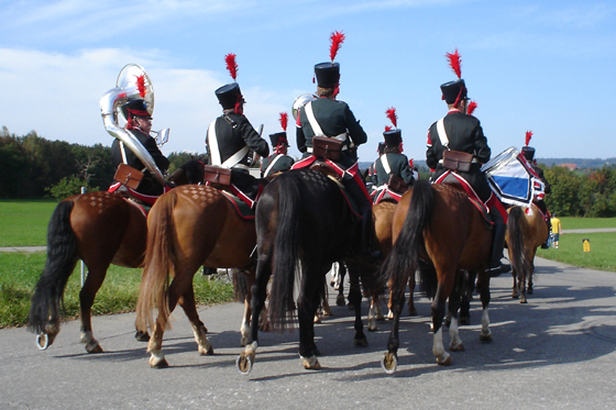
<svg viewBox="0 0 616 410">
<path fill-rule="evenodd" d="M 69 200 L 59 202 L 47 226 L 47 259 L 30 306 L 28 329 L 34 333 L 44 333 L 47 323 L 58 323 L 59 299 L 79 259 L 77 239 L 70 226 L 74 206 Z"/>
</svg>

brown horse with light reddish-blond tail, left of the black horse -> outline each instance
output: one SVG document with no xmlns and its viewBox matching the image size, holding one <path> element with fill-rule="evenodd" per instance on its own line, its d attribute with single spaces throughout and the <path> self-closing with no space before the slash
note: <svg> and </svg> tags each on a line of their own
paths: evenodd
<svg viewBox="0 0 616 410">
<path fill-rule="evenodd" d="M 255 245 L 254 220 L 241 218 L 212 187 L 183 186 L 158 198 L 147 217 L 145 266 L 136 304 L 138 329 L 152 330 L 147 343 L 152 367 L 168 366 L 162 353 L 163 334 L 178 302 L 190 320 L 199 354 L 213 353 L 195 308 L 193 277 L 200 266 L 252 270 Z"/>
</svg>

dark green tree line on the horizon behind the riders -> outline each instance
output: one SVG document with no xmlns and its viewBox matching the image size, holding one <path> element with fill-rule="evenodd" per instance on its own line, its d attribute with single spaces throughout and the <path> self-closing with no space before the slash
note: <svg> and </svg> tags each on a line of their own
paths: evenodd
<svg viewBox="0 0 616 410">
<path fill-rule="evenodd" d="M 169 173 L 199 154 L 172 153 Z M 23 136 L 0 131 L 0 198 L 66 198 L 87 190 L 106 190 L 113 182 L 111 147 L 48 141 L 31 132 Z M 544 176 L 551 185 L 546 203 L 563 217 L 616 217 L 616 166 L 571 170 L 552 165 Z M 426 173 L 421 173 L 426 178 Z"/>
</svg>

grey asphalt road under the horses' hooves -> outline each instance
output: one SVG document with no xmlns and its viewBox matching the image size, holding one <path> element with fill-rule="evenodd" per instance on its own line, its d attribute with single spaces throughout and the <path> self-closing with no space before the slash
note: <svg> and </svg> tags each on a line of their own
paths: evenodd
<svg viewBox="0 0 616 410">
<path fill-rule="evenodd" d="M 537 261 L 528 304 L 510 298 L 508 275 L 492 281 L 494 342 L 479 341 L 481 306 L 461 328 L 466 351 L 453 365 L 431 354 L 429 300 L 400 323 L 398 370 L 380 367 L 389 323 L 352 345 L 352 315 L 317 325 L 321 370 L 305 370 L 297 331 L 262 333 L 248 376 L 235 370 L 240 303 L 202 308 L 213 356 L 199 356 L 184 312 L 165 334 L 170 367 L 151 369 L 133 339 L 134 314 L 96 317 L 105 353 L 87 354 L 79 324 L 64 323 L 54 345 L 35 347 L 24 329 L 0 330 L 0 409 L 613 409 L 616 399 L 616 273 Z M 197 277 L 195 280 L 204 280 Z M 367 307 L 366 309 L 367 310 Z M 446 334 L 446 344 L 449 335 Z"/>
</svg>

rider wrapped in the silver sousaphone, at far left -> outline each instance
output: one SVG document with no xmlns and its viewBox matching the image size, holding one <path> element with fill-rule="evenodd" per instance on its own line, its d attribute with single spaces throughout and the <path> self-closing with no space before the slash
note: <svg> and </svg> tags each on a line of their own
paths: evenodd
<svg viewBox="0 0 616 410">
<path fill-rule="evenodd" d="M 147 111 L 145 101 L 142 99 L 127 102 L 122 106 L 122 113 L 127 119 L 125 129 L 130 131 L 136 140 L 143 145 L 145 149 L 152 155 L 154 163 L 161 169 L 161 173 L 166 173 L 169 167 L 169 160 L 163 155 L 156 141 L 150 135 L 152 130 L 152 117 Z M 127 164 L 131 167 L 143 171 L 143 179 L 139 184 L 136 191 L 146 196 L 161 196 L 164 192 L 164 187 L 152 176 L 150 170 L 131 151 L 127 149 L 124 144 L 116 138 L 111 145 L 111 157 L 113 166 L 118 167 L 120 164 Z"/>
</svg>

